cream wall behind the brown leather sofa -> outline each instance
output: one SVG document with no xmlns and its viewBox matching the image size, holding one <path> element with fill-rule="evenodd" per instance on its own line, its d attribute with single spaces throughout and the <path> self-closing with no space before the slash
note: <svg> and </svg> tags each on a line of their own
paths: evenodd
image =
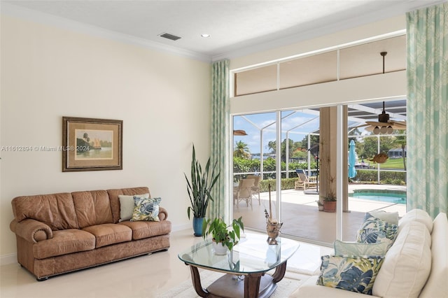
<svg viewBox="0 0 448 298">
<path fill-rule="evenodd" d="M 0 257 L 20 195 L 148 186 L 191 226 L 184 172 L 209 155 L 210 64 L 1 16 L 0 146 L 61 146 L 62 116 L 123 120 L 123 170 L 62 173 L 62 152 L 1 152 Z"/>
</svg>

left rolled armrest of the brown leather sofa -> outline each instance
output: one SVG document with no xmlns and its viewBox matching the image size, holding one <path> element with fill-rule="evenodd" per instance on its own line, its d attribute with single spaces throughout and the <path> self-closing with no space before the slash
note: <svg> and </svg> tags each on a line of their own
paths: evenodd
<svg viewBox="0 0 448 298">
<path fill-rule="evenodd" d="M 22 220 L 21 222 L 13 220 L 9 227 L 16 235 L 29 242 L 37 243 L 38 241 L 52 239 L 53 237 L 53 232 L 48 225 L 31 218 Z"/>
</svg>

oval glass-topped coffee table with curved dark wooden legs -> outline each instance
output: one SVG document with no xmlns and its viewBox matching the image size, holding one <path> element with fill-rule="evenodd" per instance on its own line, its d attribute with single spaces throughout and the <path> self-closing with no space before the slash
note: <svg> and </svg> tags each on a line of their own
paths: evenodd
<svg viewBox="0 0 448 298">
<path fill-rule="evenodd" d="M 178 256 L 190 266 L 193 286 L 200 297 L 269 297 L 285 276 L 286 262 L 299 248 L 292 239 L 276 240 L 278 244 L 269 245 L 266 234 L 247 233 L 227 255 L 215 255 L 211 239 L 207 239 Z M 204 289 L 198 268 L 225 275 Z M 272 276 L 265 274 L 272 269 Z"/>
</svg>

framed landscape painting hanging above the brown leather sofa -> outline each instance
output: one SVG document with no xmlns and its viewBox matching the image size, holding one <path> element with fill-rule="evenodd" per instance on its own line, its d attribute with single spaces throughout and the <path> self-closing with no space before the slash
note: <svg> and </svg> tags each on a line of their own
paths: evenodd
<svg viewBox="0 0 448 298">
<path fill-rule="evenodd" d="M 123 120 L 62 118 L 62 171 L 123 169 Z"/>
</svg>

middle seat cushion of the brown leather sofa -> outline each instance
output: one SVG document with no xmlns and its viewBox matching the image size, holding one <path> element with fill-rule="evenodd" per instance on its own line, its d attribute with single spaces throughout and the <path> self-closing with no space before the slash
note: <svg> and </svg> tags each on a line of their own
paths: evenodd
<svg viewBox="0 0 448 298">
<path fill-rule="evenodd" d="M 123 225 L 92 225 L 91 227 L 85 227 L 83 231 L 89 232 L 95 236 L 96 248 L 132 240 L 132 230 Z"/>
</svg>

